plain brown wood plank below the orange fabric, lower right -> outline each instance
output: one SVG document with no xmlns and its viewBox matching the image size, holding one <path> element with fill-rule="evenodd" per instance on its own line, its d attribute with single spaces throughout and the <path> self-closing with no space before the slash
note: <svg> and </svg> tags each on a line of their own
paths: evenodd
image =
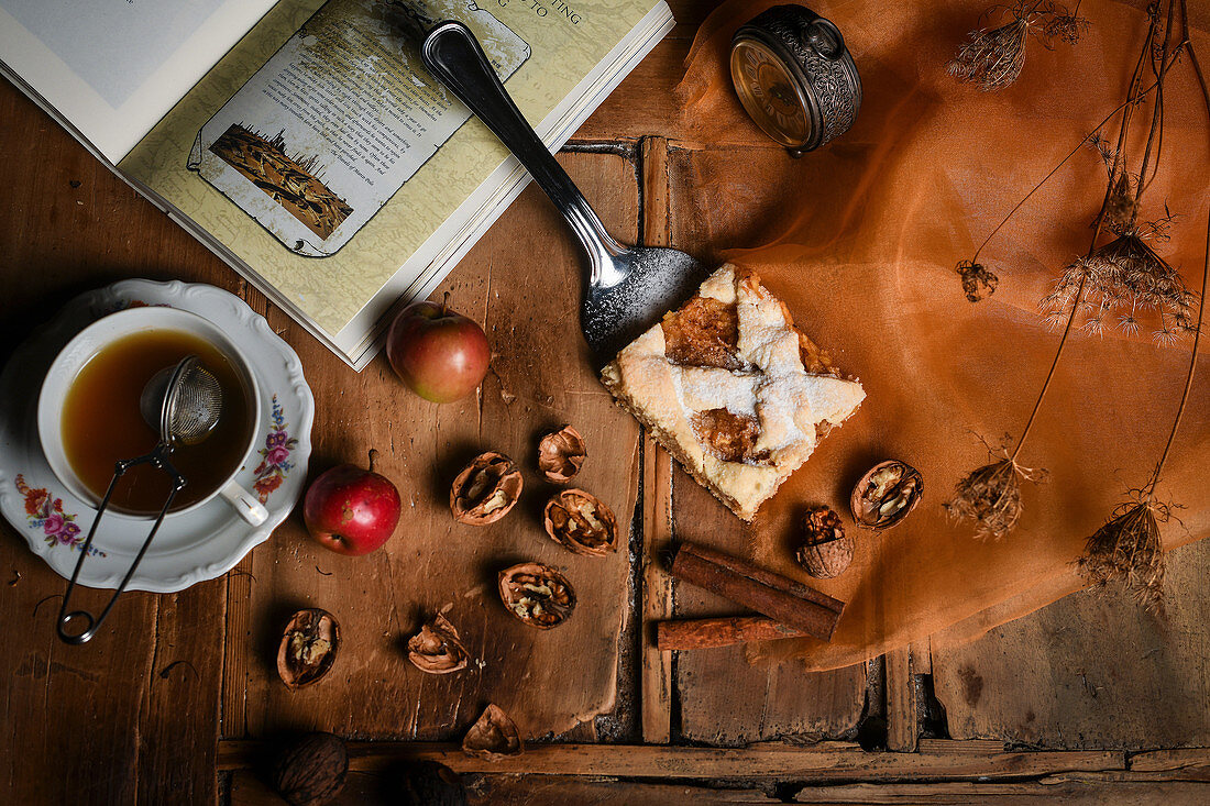
<svg viewBox="0 0 1210 806">
<path fill-rule="evenodd" d="M 1053 748 L 1210 743 L 1210 543 L 1168 558 L 1166 620 L 1119 589 L 1085 591 L 955 644 L 933 638 L 950 736 Z"/>
</svg>

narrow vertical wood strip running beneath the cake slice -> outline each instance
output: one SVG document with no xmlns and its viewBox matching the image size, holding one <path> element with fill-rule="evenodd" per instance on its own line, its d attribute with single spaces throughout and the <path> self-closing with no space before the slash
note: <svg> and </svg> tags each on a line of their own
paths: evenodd
<svg viewBox="0 0 1210 806">
<path fill-rule="evenodd" d="M 668 140 L 643 142 L 643 242 L 672 246 Z M 672 738 L 673 654 L 656 646 L 655 624 L 673 612 L 673 581 L 663 568 L 673 535 L 672 457 L 651 434 L 644 437 L 643 470 L 643 741 Z"/>
</svg>

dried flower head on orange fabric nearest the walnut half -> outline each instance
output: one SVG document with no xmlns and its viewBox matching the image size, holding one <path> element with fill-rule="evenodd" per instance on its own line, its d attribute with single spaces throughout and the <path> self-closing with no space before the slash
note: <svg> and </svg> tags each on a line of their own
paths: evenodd
<svg viewBox="0 0 1210 806">
<path fill-rule="evenodd" d="M 1013 531 L 1024 509 L 1021 479 L 1041 483 L 1048 476 L 1044 470 L 1019 465 L 1008 453 L 1010 442 L 1006 434 L 997 449 L 984 441 L 987 453 L 998 459 L 960 480 L 953 497 L 944 505 L 945 512 L 955 520 L 974 522 L 975 536 L 980 540 L 999 540 Z"/>
</svg>

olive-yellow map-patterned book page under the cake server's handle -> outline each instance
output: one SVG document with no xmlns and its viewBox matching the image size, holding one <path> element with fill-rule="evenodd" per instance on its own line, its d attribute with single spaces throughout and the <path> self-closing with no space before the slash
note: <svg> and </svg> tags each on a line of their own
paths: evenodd
<svg viewBox="0 0 1210 806">
<path fill-rule="evenodd" d="M 380 321 L 397 298 L 419 293 L 431 284 L 433 272 L 428 271 L 430 263 L 449 246 L 451 232 L 465 228 L 484 203 L 499 200 L 501 195 L 509 198 L 514 195 L 515 190 L 502 190 L 500 179 L 496 179 L 497 184 L 489 183 L 489 179 L 507 178 L 515 172 L 509 167 L 503 174 L 497 173 L 502 166 L 514 165 L 507 149 L 479 120 L 472 117 L 459 125 L 460 115 L 454 115 L 453 104 L 444 109 L 433 94 L 428 105 L 413 99 L 405 108 L 401 104 L 402 96 L 396 98 L 378 92 L 376 87 L 384 86 L 396 87 L 401 93 L 402 88 L 394 84 L 398 76 L 390 74 L 399 68 L 374 58 L 356 63 L 342 58 L 333 62 L 345 65 L 340 69 L 346 75 L 333 76 L 329 86 L 339 84 L 345 90 L 357 88 L 356 100 L 341 97 L 339 102 L 325 102 L 305 92 L 296 96 L 296 99 L 311 98 L 309 103 L 312 104 L 318 102 L 318 106 L 302 113 L 309 119 L 325 119 L 346 127 L 345 134 L 328 127 L 332 131 L 325 139 L 340 145 L 327 151 L 325 156 L 319 156 L 319 151 L 312 148 L 317 146 L 315 142 L 304 144 L 292 140 L 309 127 L 292 123 L 287 129 L 281 120 L 276 126 L 258 122 L 252 116 L 252 106 L 260 104 L 249 103 L 247 116 L 238 113 L 227 117 L 226 113 L 220 113 L 299 29 L 322 22 L 321 16 L 309 23 L 319 5 L 317 0 L 280 0 L 265 19 L 122 160 L 119 168 L 188 217 L 192 228 L 203 230 L 213 241 L 221 243 L 223 251 L 234 258 L 232 263 L 241 265 L 246 276 L 267 289 L 278 304 L 309 327 L 332 341 L 358 342 L 365 336 L 361 322 L 365 318 Z M 407 6 L 426 17 L 433 16 L 428 10 L 433 4 L 425 0 L 379 0 L 373 5 L 379 10 L 375 13 L 386 13 L 392 6 Z M 554 142 L 551 136 L 559 123 L 560 115 L 554 114 L 559 105 L 657 6 L 662 6 L 659 0 L 461 0 L 449 4 L 449 16 L 467 22 L 477 34 L 489 40 L 484 44 L 497 61 L 497 69 L 514 65 L 509 68 L 513 71 L 506 82 L 508 92 L 538 134 Z M 330 0 L 322 13 L 341 7 L 355 8 L 357 4 Z M 483 12 L 490 12 L 496 22 L 488 21 Z M 664 17 L 667 8 L 662 7 L 661 19 Z M 375 18 L 370 22 L 380 24 L 382 21 Z M 499 33 L 499 41 L 490 41 L 489 30 Z M 345 48 L 344 45 L 341 47 Z M 352 50 L 348 48 L 348 52 Z M 528 58 L 520 61 L 526 52 Z M 433 80 L 420 68 L 409 63 L 408 70 L 403 77 L 417 91 L 421 87 L 415 82 L 436 93 Z M 259 84 L 261 79 L 281 73 L 273 74 L 266 68 L 257 81 Z M 328 110 L 322 109 L 323 103 L 328 104 Z M 267 106 L 283 109 L 281 99 Z M 438 121 L 430 119 L 425 123 L 421 117 L 422 110 L 433 113 L 438 108 L 443 109 L 438 115 L 440 126 L 446 129 L 455 127 L 451 134 L 439 131 Z M 405 134 L 409 149 L 414 149 L 413 156 L 402 152 L 396 157 L 396 166 L 387 167 L 390 177 L 378 174 L 376 169 L 371 174 L 365 166 L 371 162 L 384 166 L 380 161 L 375 162 L 378 156 L 369 154 L 367 145 L 358 146 L 357 143 L 368 143 L 368 132 L 385 137 L 384 126 L 374 121 L 394 120 L 394 115 L 401 119 L 391 123 L 394 127 L 391 136 L 397 138 L 396 149 L 401 148 L 398 142 Z M 408 115 L 437 136 L 425 140 L 416 133 L 407 132 Z M 367 116 L 368 123 L 362 120 Z M 247 139 L 237 129 L 229 142 L 219 146 L 220 151 L 231 156 L 229 162 L 214 154 L 211 146 L 232 125 L 240 123 L 264 145 Z M 202 134 L 201 143 L 198 133 Z M 564 132 L 563 137 L 567 133 Z M 244 140 L 242 144 L 241 138 Z M 302 175 L 298 178 L 302 182 L 309 182 L 306 175 L 315 177 L 318 182 L 311 186 L 311 194 L 322 194 L 319 185 L 327 186 L 330 194 L 317 205 L 316 218 L 311 220 L 315 228 L 302 220 L 311 213 L 302 212 L 301 205 L 278 194 L 286 201 L 281 203 L 232 165 L 243 161 L 243 156 L 252 156 L 250 151 L 243 150 L 248 143 L 257 143 L 253 150 L 276 148 L 300 169 Z M 201 144 L 206 144 L 204 148 Z M 195 149 L 195 145 L 200 148 Z M 431 156 L 421 162 L 420 157 L 434 146 Z M 374 149 L 384 148 L 374 145 Z M 357 150 L 367 150 L 367 154 L 359 159 L 351 156 Z M 358 178 L 353 168 L 336 156 L 338 152 L 352 166 L 358 166 L 357 169 L 373 183 Z M 319 159 L 313 159 L 317 156 Z M 397 174 L 391 173 L 404 157 L 421 163 L 414 172 L 409 165 L 398 168 Z M 224 174 L 223 179 L 217 179 L 217 173 L 209 177 L 202 173 L 209 160 L 213 160 L 213 167 L 220 168 L 217 173 Z M 196 169 L 191 169 L 190 165 Z M 293 169 L 284 161 L 280 167 Z M 248 173 L 273 169 L 269 165 L 255 169 L 244 165 L 244 168 Z M 284 175 L 281 180 L 284 182 Z M 231 184 L 226 189 L 218 186 L 227 182 Z M 358 182 L 362 188 L 358 188 Z M 393 195 L 386 197 L 393 188 L 397 188 Z M 296 192 L 294 195 L 298 196 Z M 468 203 L 472 200 L 473 203 Z M 298 201 L 306 201 L 310 207 L 313 200 L 299 196 Z M 290 205 L 295 206 L 295 211 L 289 209 Z M 365 209 L 367 205 L 379 207 L 376 211 Z M 351 225 L 355 215 L 364 223 Z M 327 220 L 321 221 L 319 218 Z M 336 219 L 341 220 L 338 223 Z M 272 226 L 281 229 L 273 231 Z M 322 235 L 324 231 L 328 231 L 327 237 Z M 341 243 L 333 249 L 338 240 Z M 304 242 L 301 247 L 298 241 Z M 390 299 L 379 298 L 380 290 L 388 283 L 392 289 Z M 353 324 L 355 319 L 357 324 Z"/>
</svg>

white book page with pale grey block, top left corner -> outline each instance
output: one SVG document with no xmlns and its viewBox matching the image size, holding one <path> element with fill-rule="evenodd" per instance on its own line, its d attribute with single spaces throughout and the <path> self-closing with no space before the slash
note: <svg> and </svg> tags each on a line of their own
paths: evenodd
<svg viewBox="0 0 1210 806">
<path fill-rule="evenodd" d="M 0 0 L 0 61 L 116 162 L 273 0 Z"/>
</svg>

